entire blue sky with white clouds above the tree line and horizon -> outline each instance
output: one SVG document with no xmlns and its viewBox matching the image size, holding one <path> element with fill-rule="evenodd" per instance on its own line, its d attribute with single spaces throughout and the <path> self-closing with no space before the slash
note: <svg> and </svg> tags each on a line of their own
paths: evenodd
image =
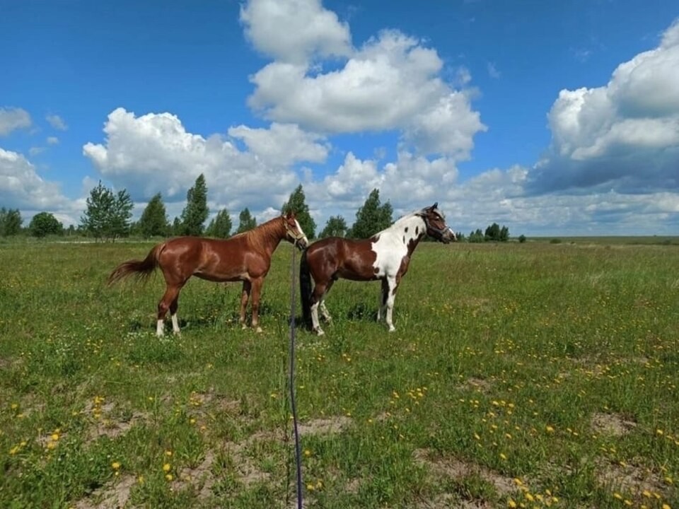
<svg viewBox="0 0 679 509">
<path fill-rule="evenodd" d="M 679 233 L 679 6 L 0 0 L 0 206 L 79 223 L 102 180 L 170 221 L 323 228 L 371 189 L 455 230 Z"/>
</svg>

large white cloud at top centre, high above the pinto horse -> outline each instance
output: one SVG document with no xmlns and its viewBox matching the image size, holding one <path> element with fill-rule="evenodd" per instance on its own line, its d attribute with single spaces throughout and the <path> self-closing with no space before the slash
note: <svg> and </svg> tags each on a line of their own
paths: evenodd
<svg viewBox="0 0 679 509">
<path fill-rule="evenodd" d="M 296 29 L 294 13 L 305 28 Z M 248 98 L 269 120 L 323 134 L 397 131 L 417 153 L 458 160 L 469 157 L 474 135 L 486 129 L 471 94 L 441 78 L 436 49 L 416 37 L 383 30 L 356 49 L 348 26 L 318 1 L 251 0 L 241 20 L 273 59 L 250 77 L 255 91 Z M 319 26 L 327 27 L 323 37 Z M 330 55 L 341 60 L 326 70 Z M 465 70 L 458 81 L 469 80 Z"/>
</svg>

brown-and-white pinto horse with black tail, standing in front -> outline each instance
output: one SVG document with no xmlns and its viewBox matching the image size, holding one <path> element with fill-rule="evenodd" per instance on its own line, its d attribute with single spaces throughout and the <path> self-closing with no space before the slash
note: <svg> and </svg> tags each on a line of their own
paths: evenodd
<svg viewBox="0 0 679 509">
<path fill-rule="evenodd" d="M 389 332 L 395 331 L 392 313 L 396 289 L 408 271 L 410 258 L 419 241 L 424 235 L 430 235 L 444 244 L 457 240 L 438 206 L 436 202 L 403 216 L 371 238 L 352 240 L 328 237 L 314 242 L 304 251 L 299 264 L 299 288 L 303 317 L 308 327 L 319 336 L 324 334 L 318 322 L 318 308 L 325 321 L 330 322 L 325 296 L 337 279 L 380 280 L 382 293 L 377 320 L 384 315 Z M 315 283 L 313 291 L 311 278 Z"/>
</svg>

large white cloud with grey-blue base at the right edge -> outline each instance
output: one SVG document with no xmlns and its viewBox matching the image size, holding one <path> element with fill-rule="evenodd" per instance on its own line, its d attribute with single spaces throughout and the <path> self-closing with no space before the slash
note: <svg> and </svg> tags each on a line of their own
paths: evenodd
<svg viewBox="0 0 679 509">
<path fill-rule="evenodd" d="M 678 84 L 675 21 L 658 47 L 617 66 L 605 86 L 559 93 L 548 115 L 552 147 L 531 188 L 679 189 Z"/>
</svg>

